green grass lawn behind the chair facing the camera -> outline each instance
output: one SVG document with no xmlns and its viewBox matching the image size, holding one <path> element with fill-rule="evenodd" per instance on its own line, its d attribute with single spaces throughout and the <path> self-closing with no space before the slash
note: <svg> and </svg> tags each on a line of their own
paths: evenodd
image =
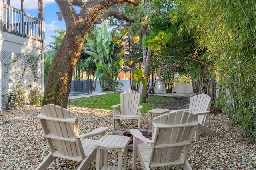
<svg viewBox="0 0 256 170">
<path fill-rule="evenodd" d="M 140 103 L 143 106 L 142 113 L 147 113 L 148 110 L 155 109 L 152 102 L 166 101 L 166 97 L 151 96 L 147 98 L 146 103 Z M 106 93 L 104 95 L 96 95 L 91 97 L 70 99 L 68 105 L 77 107 L 88 107 L 96 109 L 108 109 L 112 110 L 111 106 L 120 103 L 120 94 L 118 93 Z M 119 107 L 117 108 L 119 109 Z"/>
</svg>

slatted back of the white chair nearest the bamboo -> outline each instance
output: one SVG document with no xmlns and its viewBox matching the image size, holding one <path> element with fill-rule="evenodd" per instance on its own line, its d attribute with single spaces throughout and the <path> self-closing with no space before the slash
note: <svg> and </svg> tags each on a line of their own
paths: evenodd
<svg viewBox="0 0 256 170">
<path fill-rule="evenodd" d="M 212 99 L 210 96 L 202 93 L 190 98 L 189 109 L 190 113 L 210 111 Z M 198 123 L 205 126 L 207 114 L 198 115 Z"/>
</svg>

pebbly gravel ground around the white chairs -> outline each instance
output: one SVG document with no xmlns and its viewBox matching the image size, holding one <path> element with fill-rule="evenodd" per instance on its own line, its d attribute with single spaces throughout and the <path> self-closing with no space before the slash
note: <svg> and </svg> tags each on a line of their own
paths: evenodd
<svg viewBox="0 0 256 170">
<path fill-rule="evenodd" d="M 49 148 L 44 138 L 42 128 L 36 116 L 40 107 L 24 106 L 19 109 L 2 110 L 0 116 L 0 170 L 34 169 L 48 155 Z M 107 134 L 112 134 L 112 111 L 68 107 L 78 113 L 80 134 L 106 126 L 110 127 Z M 210 137 L 202 132 L 200 139 L 192 142 L 188 161 L 194 170 L 256 170 L 256 145 L 244 139 L 238 127 L 228 124 L 224 114 L 210 114 L 208 128 L 216 133 Z M 116 124 L 116 130 L 136 128 L 133 121 L 124 121 L 123 127 Z M 141 114 L 141 128 L 148 128 L 148 114 Z M 96 137 L 98 138 L 98 136 Z M 109 164 L 117 166 L 116 152 L 109 151 Z M 128 167 L 131 165 L 132 151 L 128 151 Z M 95 160 L 89 169 L 95 169 Z M 57 159 L 48 169 L 76 169 L 79 163 Z M 141 166 L 138 162 L 138 169 Z M 180 167 L 157 168 L 159 170 L 179 170 Z"/>
</svg>

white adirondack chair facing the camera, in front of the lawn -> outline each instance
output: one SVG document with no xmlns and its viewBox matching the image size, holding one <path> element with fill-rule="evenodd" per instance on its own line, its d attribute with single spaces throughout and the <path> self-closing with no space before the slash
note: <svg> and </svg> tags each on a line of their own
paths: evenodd
<svg viewBox="0 0 256 170">
<path fill-rule="evenodd" d="M 120 113 L 116 113 L 116 108 L 120 106 Z M 111 106 L 113 109 L 113 130 L 115 130 L 115 119 L 121 125 L 120 119 L 138 120 L 140 128 L 140 93 L 134 90 L 128 90 L 120 93 L 120 104 Z"/>
</svg>

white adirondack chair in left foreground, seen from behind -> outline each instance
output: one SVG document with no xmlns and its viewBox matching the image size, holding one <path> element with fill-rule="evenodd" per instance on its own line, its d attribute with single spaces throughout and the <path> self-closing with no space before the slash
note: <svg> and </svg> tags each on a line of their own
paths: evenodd
<svg viewBox="0 0 256 170">
<path fill-rule="evenodd" d="M 50 154 L 36 169 L 46 170 L 56 158 L 81 162 L 78 169 L 87 169 L 96 157 L 94 142 L 97 140 L 82 138 L 90 138 L 97 134 L 102 136 L 109 128 L 100 127 L 92 132 L 79 135 L 76 113 L 54 104 L 43 106 L 40 112 L 37 117 L 42 125 Z"/>
</svg>

